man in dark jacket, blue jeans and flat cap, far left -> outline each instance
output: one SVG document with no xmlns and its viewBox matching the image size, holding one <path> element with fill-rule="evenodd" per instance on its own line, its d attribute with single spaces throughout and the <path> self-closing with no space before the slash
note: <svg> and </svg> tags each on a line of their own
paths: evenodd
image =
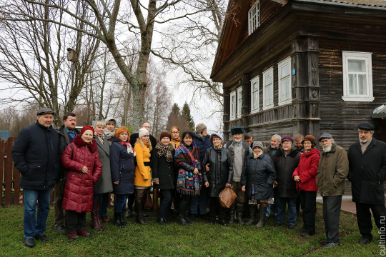
<svg viewBox="0 0 386 257">
<path fill-rule="evenodd" d="M 37 111 L 36 124 L 26 126 L 12 148 L 14 166 L 21 173 L 24 191 L 24 246 L 34 247 L 34 238 L 51 241 L 44 235 L 49 214 L 51 188 L 57 176 L 58 133 L 52 128 L 54 111 Z M 37 216 L 36 213 L 37 202 Z"/>
</svg>

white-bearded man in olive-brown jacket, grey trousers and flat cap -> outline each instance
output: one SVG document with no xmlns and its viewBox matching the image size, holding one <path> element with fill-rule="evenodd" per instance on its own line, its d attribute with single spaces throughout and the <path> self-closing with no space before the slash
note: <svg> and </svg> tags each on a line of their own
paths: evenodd
<svg viewBox="0 0 386 257">
<path fill-rule="evenodd" d="M 330 133 L 319 138 L 323 151 L 317 168 L 317 188 L 323 197 L 323 220 L 327 240 L 323 248 L 339 246 L 339 219 L 345 178 L 349 171 L 347 153 L 338 146 Z"/>
</svg>

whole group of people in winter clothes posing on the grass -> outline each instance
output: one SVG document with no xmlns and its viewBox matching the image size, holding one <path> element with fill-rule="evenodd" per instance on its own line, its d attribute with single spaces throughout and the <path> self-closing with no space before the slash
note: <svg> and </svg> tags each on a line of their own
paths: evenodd
<svg viewBox="0 0 386 257">
<path fill-rule="evenodd" d="M 169 223 L 168 215 L 174 207 L 178 209 L 178 222 L 184 226 L 202 216 L 222 226 L 237 221 L 257 223 L 261 228 L 272 210 L 274 226 L 279 227 L 284 224 L 288 206 L 287 226 L 293 229 L 301 206 L 301 236 L 315 233 L 316 196 L 320 191 L 326 232 L 323 243 L 330 248 L 340 245 L 345 178 L 352 182 L 352 200 L 362 234 L 359 243 L 372 241 L 370 209 L 377 227 L 385 231 L 380 219 L 386 215 L 386 144 L 372 138 L 372 124 L 358 126 L 360 141 L 346 153 L 330 133 L 319 137 L 322 152 L 315 148 L 312 135 L 292 138 L 275 134 L 264 148 L 240 126 L 232 127 L 232 139 L 227 142 L 221 133 L 209 135 L 204 124 L 198 124 L 195 133 L 181 133 L 173 126 L 170 133 L 161 133 L 157 142 L 149 133 L 148 121 L 132 134 L 124 126 L 116 129 L 113 118 L 79 131 L 76 115 L 66 113 L 64 125 L 56 131 L 52 128 L 53 116 L 51 109 L 40 109 L 36 124 L 21 130 L 12 149 L 24 189 L 25 246 L 34 247 L 34 238 L 51 241 L 44 231 L 52 187 L 54 228 L 66 231 L 71 239 L 90 235 L 86 231 L 88 212 L 91 226 L 97 231 L 104 229 L 103 223 L 109 222 L 109 192 L 115 196 L 115 226 L 129 225 L 125 213 L 131 216 L 133 206 L 137 222 L 146 225 L 144 201 L 153 185 L 161 194 L 157 217 L 161 225 Z M 232 188 L 237 195 L 228 210 L 219 201 L 224 188 Z M 248 220 L 244 221 L 246 216 Z"/>
</svg>

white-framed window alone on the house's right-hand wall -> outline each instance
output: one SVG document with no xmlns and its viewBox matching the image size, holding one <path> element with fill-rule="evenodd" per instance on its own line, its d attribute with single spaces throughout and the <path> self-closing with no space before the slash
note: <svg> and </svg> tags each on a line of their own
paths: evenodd
<svg viewBox="0 0 386 257">
<path fill-rule="evenodd" d="M 342 51 L 344 101 L 373 101 L 372 53 Z"/>
</svg>

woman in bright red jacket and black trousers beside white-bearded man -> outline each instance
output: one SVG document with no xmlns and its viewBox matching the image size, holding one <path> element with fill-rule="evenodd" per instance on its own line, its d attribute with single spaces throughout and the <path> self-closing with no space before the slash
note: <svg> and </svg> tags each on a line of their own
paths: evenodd
<svg viewBox="0 0 386 257">
<path fill-rule="evenodd" d="M 296 188 L 300 190 L 300 202 L 302 203 L 303 228 L 300 236 L 311 236 L 315 234 L 316 175 L 320 151 L 314 148 L 314 136 L 305 136 L 302 144 L 305 151 L 300 156 L 299 165 L 292 174 L 292 178 L 296 181 Z"/>
</svg>

